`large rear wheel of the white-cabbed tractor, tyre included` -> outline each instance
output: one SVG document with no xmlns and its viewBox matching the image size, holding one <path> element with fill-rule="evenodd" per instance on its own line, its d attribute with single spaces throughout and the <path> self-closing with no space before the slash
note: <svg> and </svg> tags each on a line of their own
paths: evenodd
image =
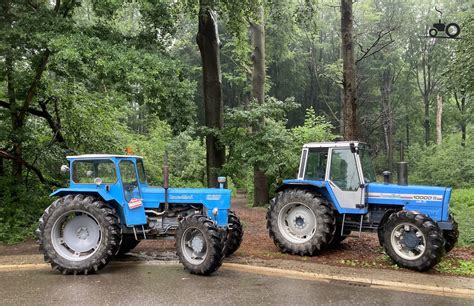
<svg viewBox="0 0 474 306">
<path fill-rule="evenodd" d="M 267 212 L 270 238 L 281 251 L 315 255 L 334 237 L 336 219 L 330 204 L 304 190 L 279 192 Z"/>
</svg>

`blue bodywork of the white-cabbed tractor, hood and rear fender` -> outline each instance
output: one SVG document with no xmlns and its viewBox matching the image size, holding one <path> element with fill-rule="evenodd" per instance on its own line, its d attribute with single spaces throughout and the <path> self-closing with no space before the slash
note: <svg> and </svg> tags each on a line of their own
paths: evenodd
<svg viewBox="0 0 474 306">
<path fill-rule="evenodd" d="M 451 188 L 432 186 L 401 186 L 396 184 L 368 183 L 363 208 L 343 208 L 337 200 L 332 186 L 324 180 L 292 179 L 283 181 L 278 190 L 287 188 L 317 188 L 329 199 L 341 214 L 366 214 L 370 205 L 400 206 L 405 210 L 418 211 L 430 216 L 434 221 L 448 221 Z"/>
</svg>

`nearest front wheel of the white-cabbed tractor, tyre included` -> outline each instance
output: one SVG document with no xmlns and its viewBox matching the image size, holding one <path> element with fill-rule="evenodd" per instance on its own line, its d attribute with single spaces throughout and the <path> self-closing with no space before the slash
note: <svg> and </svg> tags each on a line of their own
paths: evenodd
<svg viewBox="0 0 474 306">
<path fill-rule="evenodd" d="M 444 238 L 430 217 L 402 210 L 390 215 L 384 225 L 384 248 L 400 267 L 426 271 L 443 257 Z"/>
</svg>

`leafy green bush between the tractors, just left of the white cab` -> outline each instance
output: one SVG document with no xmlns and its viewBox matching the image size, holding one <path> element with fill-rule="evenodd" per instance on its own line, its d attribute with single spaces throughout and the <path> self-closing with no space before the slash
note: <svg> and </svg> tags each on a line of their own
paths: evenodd
<svg viewBox="0 0 474 306">
<path fill-rule="evenodd" d="M 334 139 L 332 125 L 312 108 L 302 126 L 286 128 L 286 114 L 295 107 L 292 100 L 267 98 L 263 104 L 227 110 L 225 127 L 218 131 L 229 151 L 224 171 L 238 188 L 247 190 L 249 198 L 255 165 L 265 171 L 273 190 L 283 179 L 295 177 L 304 143 Z"/>
</svg>

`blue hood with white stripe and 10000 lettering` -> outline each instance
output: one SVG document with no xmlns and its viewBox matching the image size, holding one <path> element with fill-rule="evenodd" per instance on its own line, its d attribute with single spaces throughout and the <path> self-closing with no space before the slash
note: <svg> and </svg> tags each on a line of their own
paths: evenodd
<svg viewBox="0 0 474 306">
<path fill-rule="evenodd" d="M 422 210 L 428 212 L 435 221 L 447 221 L 449 216 L 449 200 L 451 188 L 396 185 L 367 184 L 369 204 L 403 205 L 406 210 Z"/>
</svg>

